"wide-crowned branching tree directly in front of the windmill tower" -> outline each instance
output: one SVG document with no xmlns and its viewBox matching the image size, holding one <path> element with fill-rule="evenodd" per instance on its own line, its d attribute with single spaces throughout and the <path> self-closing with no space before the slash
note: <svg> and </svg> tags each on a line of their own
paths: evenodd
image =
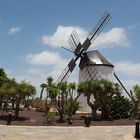
<svg viewBox="0 0 140 140">
<path fill-rule="evenodd" d="M 92 117 L 96 118 L 97 109 L 101 103 L 118 92 L 118 85 L 106 80 L 92 80 L 85 84 L 84 94 L 87 97 L 87 104 L 92 110 Z"/>
</svg>

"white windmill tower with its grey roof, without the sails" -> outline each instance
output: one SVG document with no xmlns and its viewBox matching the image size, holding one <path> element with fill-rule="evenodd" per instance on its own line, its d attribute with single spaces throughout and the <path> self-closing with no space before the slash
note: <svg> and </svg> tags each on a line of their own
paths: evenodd
<svg viewBox="0 0 140 140">
<path fill-rule="evenodd" d="M 101 79 L 114 81 L 114 66 L 98 50 L 86 52 L 80 60 L 79 67 L 79 83 Z M 78 100 L 82 106 L 81 111 L 91 111 L 85 102 L 85 96 L 81 95 Z"/>
</svg>

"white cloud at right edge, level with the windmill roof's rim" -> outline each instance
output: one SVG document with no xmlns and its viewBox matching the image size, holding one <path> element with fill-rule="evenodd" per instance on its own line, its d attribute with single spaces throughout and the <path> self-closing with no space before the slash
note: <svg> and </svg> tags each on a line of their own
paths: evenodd
<svg viewBox="0 0 140 140">
<path fill-rule="evenodd" d="M 115 64 L 116 71 L 128 77 L 140 78 L 140 63 L 134 63 L 131 61 L 123 61 Z"/>
</svg>

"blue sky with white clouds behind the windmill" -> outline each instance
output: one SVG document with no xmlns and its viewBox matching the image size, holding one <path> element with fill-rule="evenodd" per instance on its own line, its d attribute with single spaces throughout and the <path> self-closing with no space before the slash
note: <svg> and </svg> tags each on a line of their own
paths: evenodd
<svg viewBox="0 0 140 140">
<path fill-rule="evenodd" d="M 0 0 L 0 67 L 19 81 L 30 81 L 40 92 L 46 77 L 56 80 L 73 54 L 68 37 L 73 30 L 85 39 L 102 14 L 111 13 L 90 50 L 99 51 L 131 89 L 140 85 L 139 0 Z M 70 81 L 78 79 L 78 68 Z"/>
</svg>

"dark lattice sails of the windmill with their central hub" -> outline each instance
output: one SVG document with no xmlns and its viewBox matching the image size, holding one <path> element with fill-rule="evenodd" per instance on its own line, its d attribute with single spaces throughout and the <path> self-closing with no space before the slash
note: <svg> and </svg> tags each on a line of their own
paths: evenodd
<svg viewBox="0 0 140 140">
<path fill-rule="evenodd" d="M 100 18 L 96 26 L 93 28 L 89 36 L 86 38 L 86 40 L 83 42 L 83 44 L 80 43 L 79 37 L 77 35 L 77 32 L 73 30 L 72 34 L 69 37 L 69 44 L 70 46 L 74 49 L 73 53 L 75 55 L 75 58 L 72 58 L 68 65 L 65 67 L 63 72 L 60 74 L 58 77 L 56 84 L 59 84 L 61 82 L 67 81 L 69 78 L 70 74 L 73 72 L 75 66 L 76 66 L 76 61 L 81 58 L 80 62 L 80 69 L 83 68 L 84 65 L 86 65 L 86 60 L 87 60 L 87 49 L 90 47 L 90 45 L 94 42 L 94 40 L 98 37 L 98 35 L 101 33 L 105 25 L 108 23 L 108 21 L 111 19 L 111 14 L 108 13 L 107 11 L 103 14 L 103 16 Z M 96 72 L 98 73 L 98 72 Z M 90 73 L 88 73 L 90 76 Z M 92 76 L 91 80 L 92 80 Z"/>
</svg>

